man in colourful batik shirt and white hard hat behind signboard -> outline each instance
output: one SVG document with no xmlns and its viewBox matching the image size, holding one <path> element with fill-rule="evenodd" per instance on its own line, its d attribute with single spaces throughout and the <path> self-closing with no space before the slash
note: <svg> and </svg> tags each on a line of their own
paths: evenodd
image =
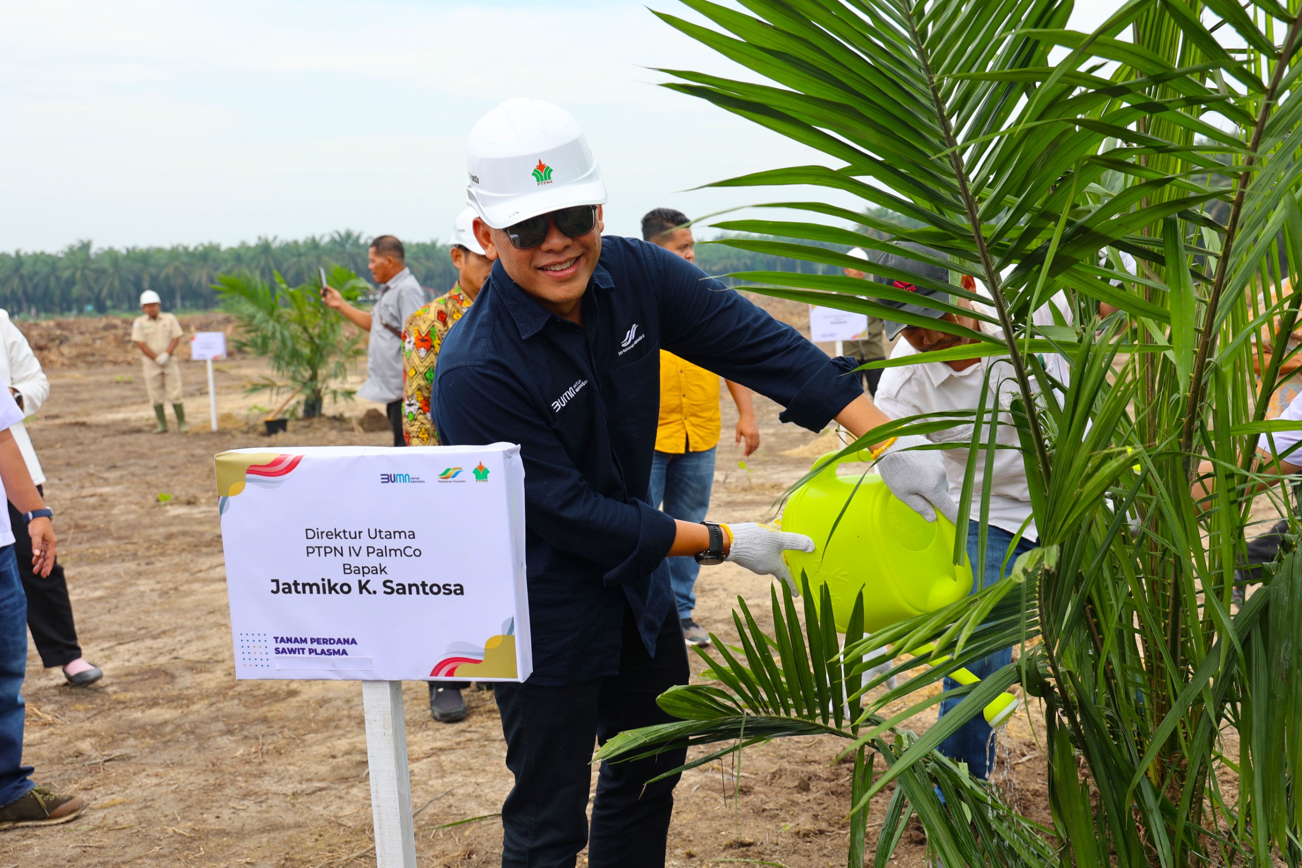
<svg viewBox="0 0 1302 868">
<path fill-rule="evenodd" d="M 439 434 L 430 418 L 430 392 L 443 339 L 479 295 L 492 262 L 475 240 L 474 209 L 457 215 L 452 228 L 452 266 L 457 283 L 406 319 L 402 328 L 402 434 L 408 446 L 437 446 Z M 465 719 L 461 691 L 470 682 L 430 682 L 430 714 L 440 723 Z"/>
</svg>

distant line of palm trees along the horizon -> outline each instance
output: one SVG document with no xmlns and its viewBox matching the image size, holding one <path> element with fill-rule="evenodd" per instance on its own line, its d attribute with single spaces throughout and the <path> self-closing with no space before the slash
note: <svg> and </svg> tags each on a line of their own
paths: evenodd
<svg viewBox="0 0 1302 868">
<path fill-rule="evenodd" d="M 271 282 L 279 272 L 298 285 L 316 278 L 320 267 L 344 266 L 365 278 L 368 242 L 367 236 L 345 229 L 292 241 L 262 236 L 234 246 L 208 242 L 118 249 L 81 240 L 59 253 L 0 253 L 0 308 L 31 318 L 134 311 L 141 292 L 154 289 L 173 310 L 207 310 L 217 306 L 214 283 L 223 274 L 245 272 Z M 406 242 L 408 266 L 431 293 L 449 289 L 457 279 L 448 252 L 437 239 Z M 697 263 L 716 275 L 827 268 L 708 244 L 698 248 Z"/>
</svg>

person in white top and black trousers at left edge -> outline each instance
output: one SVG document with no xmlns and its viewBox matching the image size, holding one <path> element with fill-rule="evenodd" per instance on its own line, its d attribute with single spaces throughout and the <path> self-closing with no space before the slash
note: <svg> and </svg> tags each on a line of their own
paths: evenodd
<svg viewBox="0 0 1302 868">
<path fill-rule="evenodd" d="M 13 325 L 7 310 L 0 310 L 0 343 L 4 344 L 4 352 L 0 353 L 0 379 L 9 383 L 9 394 L 13 395 L 23 418 L 26 418 L 46 403 L 49 396 L 49 381 L 46 379 L 46 371 L 40 369 L 40 362 L 31 352 L 27 339 Z M 27 437 L 27 429 L 20 421 L 14 422 L 9 431 L 18 444 L 22 460 L 27 464 L 31 481 L 44 497 L 46 474 L 40 469 L 40 461 L 36 459 L 36 450 L 31 446 L 31 438 Z M 40 662 L 46 669 L 61 666 L 64 678 L 73 687 L 92 684 L 103 678 L 104 673 L 99 666 L 82 657 L 81 645 L 77 643 L 77 626 L 73 622 L 73 605 L 68 598 L 64 567 L 55 562 L 46 577 L 36 576 L 31 571 L 31 546 L 26 540 L 26 533 L 22 532 L 26 523 L 13 503 L 8 506 L 9 525 L 17 540 L 14 553 L 18 558 L 18 576 L 22 579 L 22 588 L 27 594 L 27 628 L 36 644 Z"/>
</svg>

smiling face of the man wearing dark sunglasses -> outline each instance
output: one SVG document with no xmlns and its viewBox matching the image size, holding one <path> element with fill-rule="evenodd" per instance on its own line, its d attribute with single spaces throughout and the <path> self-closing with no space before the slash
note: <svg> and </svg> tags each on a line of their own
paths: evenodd
<svg viewBox="0 0 1302 868">
<path fill-rule="evenodd" d="M 602 255 L 602 207 L 596 225 L 587 235 L 572 239 L 547 224 L 547 237 L 536 248 L 517 250 L 505 229 L 493 229 L 475 218 L 475 239 L 490 259 L 500 259 L 510 279 L 557 317 L 578 322 L 579 302 Z"/>
</svg>

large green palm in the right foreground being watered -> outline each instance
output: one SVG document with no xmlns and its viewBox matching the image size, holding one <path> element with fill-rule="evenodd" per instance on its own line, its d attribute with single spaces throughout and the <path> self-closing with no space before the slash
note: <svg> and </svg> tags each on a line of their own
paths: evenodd
<svg viewBox="0 0 1302 868">
<path fill-rule="evenodd" d="M 891 782 L 878 865 L 909 812 L 950 867 L 1299 864 L 1302 562 L 1293 537 L 1238 609 L 1233 590 L 1254 497 L 1277 480 L 1256 461 L 1258 438 L 1298 426 L 1264 421 L 1295 351 L 1260 336 L 1292 332 L 1302 301 L 1290 289 L 1302 262 L 1302 7 L 1131 0 L 1083 34 L 1065 29 L 1072 5 L 1061 0 L 684 3 L 713 26 L 658 14 L 766 81 L 663 70 L 667 86 L 831 163 L 720 184 L 809 185 L 861 202 L 775 202 L 785 210 L 775 219 L 716 224 L 769 239 L 723 242 L 866 268 L 888 283 L 862 297 L 862 283 L 835 275 L 732 276 L 756 292 L 970 340 L 898 364 L 1006 357 L 1012 400 L 957 420 L 970 433 L 965 493 L 987 472 L 996 430 L 1012 426 L 1039 547 L 975 605 L 871 639 L 852 631 L 844 650 L 818 588 L 803 613 L 775 596 L 772 637 L 742 607 L 741 645 L 720 646 L 715 683 L 661 697 L 684 721 L 624 734 L 599 757 L 723 745 L 699 762 L 760 739 L 844 738 L 857 751 L 852 867 L 865 859 L 862 809 Z M 792 211 L 801 216 L 781 216 Z M 876 298 L 919 301 L 889 282 L 926 282 L 823 244 L 974 275 L 983 293 L 957 280 L 932 288 L 975 304 L 980 328 L 884 308 Z M 1035 325 L 1032 311 L 1057 293 L 1069 315 Z M 1051 373 L 1051 354 L 1069 375 Z M 897 420 L 846 452 L 954 424 Z M 1277 499 L 1292 520 L 1288 499 Z M 970 516 L 962 503 L 960 529 L 975 519 L 984 547 L 986 504 Z M 885 675 L 861 687 L 862 654 L 884 643 L 904 654 L 897 673 L 914 674 L 866 701 Z M 907 657 L 928 644 L 936 650 Z M 1022 646 L 1018 662 L 965 688 L 924 735 L 897 727 L 934 700 L 881 717 L 885 702 L 1009 644 Z M 948 727 L 1014 684 L 1043 709 L 1051 830 L 934 751 Z"/>
</svg>

